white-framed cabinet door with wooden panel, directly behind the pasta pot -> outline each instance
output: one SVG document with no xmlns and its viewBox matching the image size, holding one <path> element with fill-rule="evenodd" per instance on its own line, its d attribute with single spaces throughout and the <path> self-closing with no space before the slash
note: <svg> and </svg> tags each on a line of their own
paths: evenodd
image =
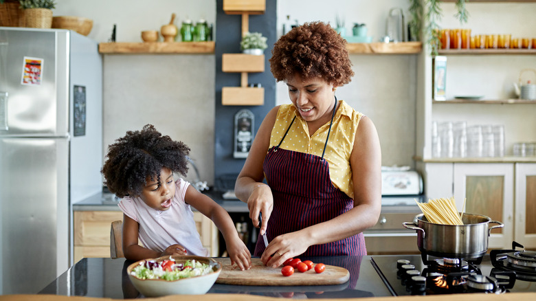
<svg viewBox="0 0 536 301">
<path fill-rule="evenodd" d="M 458 210 L 489 216 L 503 228 L 494 229 L 489 248 L 511 248 L 513 241 L 513 164 L 454 164 L 454 197 Z M 496 224 L 490 224 L 490 227 Z"/>
</svg>

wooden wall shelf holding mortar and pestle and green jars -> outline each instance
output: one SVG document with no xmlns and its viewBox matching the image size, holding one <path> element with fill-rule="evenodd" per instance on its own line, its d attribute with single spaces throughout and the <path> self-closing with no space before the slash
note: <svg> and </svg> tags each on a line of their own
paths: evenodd
<svg viewBox="0 0 536 301">
<path fill-rule="evenodd" d="M 214 41 L 100 43 L 101 54 L 214 54 Z"/>
</svg>

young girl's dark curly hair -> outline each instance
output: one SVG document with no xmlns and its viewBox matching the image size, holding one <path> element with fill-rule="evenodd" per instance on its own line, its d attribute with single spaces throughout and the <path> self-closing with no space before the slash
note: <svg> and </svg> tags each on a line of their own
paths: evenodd
<svg viewBox="0 0 536 301">
<path fill-rule="evenodd" d="M 142 193 L 147 177 L 160 181 L 162 168 L 186 177 L 189 153 L 186 144 L 162 136 L 155 126 L 147 124 L 142 131 L 127 131 L 109 145 L 108 159 L 100 172 L 110 192 L 118 197 L 137 196 Z"/>
</svg>

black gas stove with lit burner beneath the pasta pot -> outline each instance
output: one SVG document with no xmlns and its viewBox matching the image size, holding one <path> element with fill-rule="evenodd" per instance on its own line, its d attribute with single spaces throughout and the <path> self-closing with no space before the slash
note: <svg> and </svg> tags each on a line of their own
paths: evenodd
<svg viewBox="0 0 536 301">
<path fill-rule="evenodd" d="M 480 258 L 372 256 L 371 263 L 392 296 L 536 292 L 536 252 L 516 247 Z"/>
</svg>

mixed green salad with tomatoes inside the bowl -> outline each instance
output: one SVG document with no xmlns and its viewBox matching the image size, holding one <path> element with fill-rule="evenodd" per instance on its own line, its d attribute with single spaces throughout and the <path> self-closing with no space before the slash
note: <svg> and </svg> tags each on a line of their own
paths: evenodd
<svg viewBox="0 0 536 301">
<path fill-rule="evenodd" d="M 184 263 L 176 263 L 173 258 L 157 262 L 156 260 L 143 260 L 137 267 L 132 269 L 131 275 L 136 278 L 164 279 L 168 281 L 181 278 L 201 276 L 212 272 L 212 267 L 197 260 L 186 260 Z"/>
</svg>

